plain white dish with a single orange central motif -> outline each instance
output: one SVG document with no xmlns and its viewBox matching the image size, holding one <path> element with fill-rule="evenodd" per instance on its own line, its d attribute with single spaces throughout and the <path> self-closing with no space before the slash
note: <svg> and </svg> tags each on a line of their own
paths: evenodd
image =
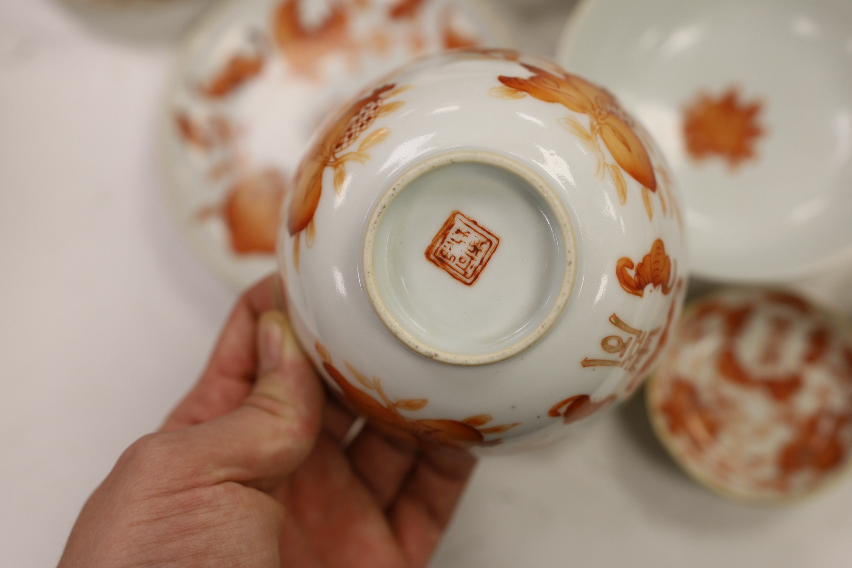
<svg viewBox="0 0 852 568">
<path fill-rule="evenodd" d="M 852 258 L 852 3 L 583 0 L 556 60 L 659 142 L 694 273 L 786 281 Z"/>
</svg>

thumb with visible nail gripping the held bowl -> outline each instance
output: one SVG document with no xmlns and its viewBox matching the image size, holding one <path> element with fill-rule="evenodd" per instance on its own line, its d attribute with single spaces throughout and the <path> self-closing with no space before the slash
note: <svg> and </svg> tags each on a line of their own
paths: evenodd
<svg viewBox="0 0 852 568">
<path fill-rule="evenodd" d="M 304 461 L 319 433 L 322 387 L 285 315 L 264 313 L 257 327 L 260 375 L 242 405 L 170 434 L 204 483 L 265 489 Z"/>
</svg>

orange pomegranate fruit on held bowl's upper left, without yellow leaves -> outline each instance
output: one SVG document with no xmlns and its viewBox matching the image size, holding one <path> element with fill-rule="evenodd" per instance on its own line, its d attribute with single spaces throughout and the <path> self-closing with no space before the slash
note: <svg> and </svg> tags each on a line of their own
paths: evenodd
<svg viewBox="0 0 852 568">
<path fill-rule="evenodd" d="M 363 126 L 360 121 L 354 120 L 359 118 L 359 115 L 366 106 L 371 103 L 376 103 L 381 99 L 382 95 L 390 89 L 394 89 L 394 84 L 384 85 L 379 89 L 374 90 L 371 95 L 358 100 L 352 106 L 343 112 L 337 122 L 331 123 L 325 132 L 320 136 L 308 156 L 302 160 L 296 172 L 296 187 L 293 194 L 293 201 L 290 205 L 290 215 L 287 219 L 287 230 L 291 235 L 302 231 L 308 227 L 308 223 L 314 218 L 317 205 L 320 204 L 320 193 L 322 192 L 322 175 L 325 166 L 331 162 L 336 148 L 340 148 L 344 141 L 348 141 L 356 127 L 361 129 Z M 371 122 L 370 122 L 371 123 Z M 364 126 L 363 128 L 368 128 Z M 357 133 L 360 135 L 360 131 Z M 354 137 L 357 138 L 357 135 Z"/>
</svg>

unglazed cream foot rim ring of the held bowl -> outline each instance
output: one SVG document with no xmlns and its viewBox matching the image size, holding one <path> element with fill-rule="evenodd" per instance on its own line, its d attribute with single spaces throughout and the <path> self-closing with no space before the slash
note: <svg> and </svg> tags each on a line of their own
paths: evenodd
<svg viewBox="0 0 852 568">
<path fill-rule="evenodd" d="M 509 347 L 504 347 L 503 349 L 492 353 L 475 355 L 448 353 L 446 351 L 436 349 L 435 347 L 430 347 L 423 341 L 420 341 L 406 331 L 390 313 L 388 307 L 385 306 L 382 296 L 379 294 L 376 281 L 374 250 L 377 241 L 377 233 L 381 226 L 383 215 L 388 210 L 391 202 L 397 197 L 397 195 L 399 195 L 401 190 L 408 186 L 417 177 L 426 174 L 433 169 L 440 168 L 441 166 L 458 163 L 488 164 L 505 169 L 510 173 L 521 177 L 523 181 L 530 184 L 530 186 L 538 192 L 539 196 L 544 199 L 544 203 L 548 205 L 556 221 L 558 221 L 562 236 L 561 248 L 564 251 L 565 270 L 562 275 L 559 293 L 556 296 L 556 301 L 554 301 L 552 307 L 550 307 L 550 312 L 547 313 L 541 323 L 538 324 L 532 332 L 528 333 L 527 336 L 521 337 L 520 341 L 515 341 L 515 343 L 509 345 Z M 568 211 L 565 204 L 562 203 L 561 198 L 556 194 L 550 184 L 547 181 L 544 181 L 544 178 L 535 173 L 532 169 L 529 169 L 515 160 L 503 155 L 480 150 L 460 150 L 440 154 L 439 156 L 426 159 L 413 166 L 411 169 L 408 169 L 406 173 L 401 175 L 399 179 L 394 181 L 394 184 L 390 186 L 386 192 L 384 192 L 383 196 L 378 200 L 378 203 L 373 209 L 370 219 L 367 222 L 364 244 L 361 249 L 361 267 L 364 274 L 364 286 L 366 288 L 367 295 L 370 298 L 372 307 L 377 313 L 379 319 L 382 320 L 384 326 L 391 332 L 391 334 L 394 335 L 394 337 L 396 337 L 406 347 L 412 349 L 415 353 L 423 355 L 423 357 L 427 359 L 432 359 L 444 364 L 478 366 L 498 363 L 499 361 L 515 357 L 515 355 L 523 353 L 530 347 L 533 347 L 537 341 L 547 335 L 553 325 L 559 320 L 562 311 L 565 309 L 568 300 L 571 298 L 574 280 L 576 278 L 576 250 L 577 242 L 571 217 L 568 215 Z"/>
</svg>

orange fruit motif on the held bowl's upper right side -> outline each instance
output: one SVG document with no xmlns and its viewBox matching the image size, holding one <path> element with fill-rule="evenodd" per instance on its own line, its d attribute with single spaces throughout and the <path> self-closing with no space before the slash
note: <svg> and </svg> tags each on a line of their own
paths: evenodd
<svg viewBox="0 0 852 568">
<path fill-rule="evenodd" d="M 601 135 L 619 166 L 642 186 L 656 191 L 657 179 L 648 151 L 613 95 L 567 72 L 559 76 L 526 63 L 521 65 L 533 72 L 533 77 L 525 79 L 501 75 L 498 77 L 500 83 L 525 91 L 538 100 L 558 103 L 573 112 L 589 115 L 593 129 Z"/>
</svg>

